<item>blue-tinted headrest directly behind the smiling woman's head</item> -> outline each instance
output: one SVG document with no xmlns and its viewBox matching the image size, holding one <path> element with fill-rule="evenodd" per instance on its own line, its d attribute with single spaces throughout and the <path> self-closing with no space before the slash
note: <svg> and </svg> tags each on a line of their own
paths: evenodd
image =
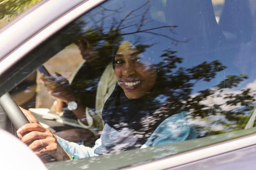
<svg viewBox="0 0 256 170">
<path fill-rule="evenodd" d="M 172 36 L 185 42 L 183 50 L 207 51 L 225 40 L 211 0 L 167 0 L 165 19 L 167 24 L 177 26 Z"/>
</svg>

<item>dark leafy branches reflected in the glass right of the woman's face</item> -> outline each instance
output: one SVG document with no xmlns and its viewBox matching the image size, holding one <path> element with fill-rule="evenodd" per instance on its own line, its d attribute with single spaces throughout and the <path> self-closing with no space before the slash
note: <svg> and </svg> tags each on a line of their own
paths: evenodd
<svg viewBox="0 0 256 170">
<path fill-rule="evenodd" d="M 218 123 L 221 123 L 225 130 L 215 131 L 210 129 L 211 135 L 245 126 L 246 115 L 253 109 L 253 103 L 255 102 L 252 90 L 247 88 L 236 94 L 223 94 L 224 89 L 236 87 L 247 79 L 248 77 L 245 74 L 239 76 L 228 75 L 216 87 L 202 89 L 192 95 L 193 87 L 196 86 L 197 82 L 210 82 L 216 77 L 217 72 L 227 67 L 217 60 L 202 62 L 191 68 L 178 67 L 183 59 L 176 56 L 176 51 L 171 50 L 164 51 L 161 57 L 163 60 L 158 63 L 157 67 L 162 71 L 163 94 L 168 94 L 169 110 L 173 110 L 175 113 L 188 111 L 193 117 L 200 117 L 201 119 L 208 117 L 209 114 L 224 115 L 226 119 L 218 120 Z M 225 102 L 213 103 L 212 106 L 204 102 L 215 97 L 219 97 Z M 226 111 L 223 109 L 223 104 L 235 108 Z M 199 127 L 198 129 L 202 128 Z"/>
</svg>

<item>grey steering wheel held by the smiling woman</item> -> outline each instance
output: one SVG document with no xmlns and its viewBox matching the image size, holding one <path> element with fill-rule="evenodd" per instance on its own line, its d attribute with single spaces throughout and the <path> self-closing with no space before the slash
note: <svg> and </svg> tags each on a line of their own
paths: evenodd
<svg viewBox="0 0 256 170">
<path fill-rule="evenodd" d="M 2 106 L 2 109 L 4 110 L 5 114 L 14 124 L 16 129 L 19 129 L 24 124 L 29 123 L 28 119 L 25 117 L 23 112 L 20 110 L 20 107 L 12 99 L 9 93 L 5 93 L 0 97 L 0 105 Z M 22 135 L 25 135 L 25 134 L 26 133 L 23 133 Z M 40 155 L 39 157 L 44 163 L 50 162 L 54 159 L 50 154 L 43 154 L 43 155 Z"/>
</svg>

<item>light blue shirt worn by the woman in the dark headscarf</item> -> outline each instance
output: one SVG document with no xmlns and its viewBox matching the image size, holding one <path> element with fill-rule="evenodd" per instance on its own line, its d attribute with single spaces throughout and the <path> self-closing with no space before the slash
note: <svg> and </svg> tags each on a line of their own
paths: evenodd
<svg viewBox="0 0 256 170">
<path fill-rule="evenodd" d="M 108 125 L 105 124 L 105 126 Z M 109 128 L 109 126 L 104 128 Z M 195 127 L 189 125 L 185 119 L 185 113 L 180 112 L 162 121 L 146 143 L 142 145 L 141 149 L 194 138 L 197 138 Z M 97 156 L 98 154 L 94 153 L 94 151 L 101 146 L 101 138 L 96 140 L 94 147 L 79 145 L 74 142 L 66 141 L 60 137 L 58 137 L 58 142 L 65 152 L 69 155 L 74 155 L 75 158 Z"/>
</svg>

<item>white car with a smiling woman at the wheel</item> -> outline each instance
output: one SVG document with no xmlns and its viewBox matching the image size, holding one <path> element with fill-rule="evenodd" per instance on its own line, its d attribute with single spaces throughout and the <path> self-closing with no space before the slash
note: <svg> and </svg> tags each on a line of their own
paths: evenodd
<svg viewBox="0 0 256 170">
<path fill-rule="evenodd" d="M 165 109 L 158 110 L 158 114 L 185 114 L 181 122 L 169 122 L 172 130 L 165 135 L 173 133 L 172 140 L 145 149 L 59 162 L 42 163 L 26 145 L 15 140 L 20 152 L 34 156 L 38 169 L 48 170 L 254 169 L 255 7 L 256 0 L 41 0 L 0 29 L 0 104 L 4 109 L 0 127 L 15 136 L 17 126 L 24 123 L 23 115 L 14 113 L 16 105 L 4 98 L 10 92 L 19 105 L 33 112 L 53 133 L 93 146 L 96 137 L 84 134 L 88 130 L 80 120 L 54 110 L 56 99 L 39 81 L 42 73 L 37 70 L 43 65 L 49 74 L 58 72 L 72 83 L 84 60 L 89 62 L 89 58 L 81 57 L 77 46 L 81 37 L 90 42 L 87 48 L 105 66 L 117 56 L 118 44 L 132 37 L 138 51 L 131 57 L 139 55 L 136 62 L 145 59 L 145 63 L 158 68 L 156 81 L 161 88 L 148 107 L 164 104 Z M 33 83 L 24 83 L 28 80 Z M 95 101 L 99 78 L 90 80 L 85 90 L 93 92 L 94 97 L 89 99 Z M 125 85 L 129 90 L 139 83 L 137 80 Z M 68 109 L 72 110 L 72 106 Z M 195 128 L 193 139 L 175 137 L 180 133 L 175 128 L 183 120 Z M 4 142 L 13 138 L 4 131 L 0 136 Z M 26 157 L 20 159 L 26 161 Z M 9 163 L 3 165 L 12 168 L 16 160 L 17 156 L 8 156 Z"/>
</svg>

